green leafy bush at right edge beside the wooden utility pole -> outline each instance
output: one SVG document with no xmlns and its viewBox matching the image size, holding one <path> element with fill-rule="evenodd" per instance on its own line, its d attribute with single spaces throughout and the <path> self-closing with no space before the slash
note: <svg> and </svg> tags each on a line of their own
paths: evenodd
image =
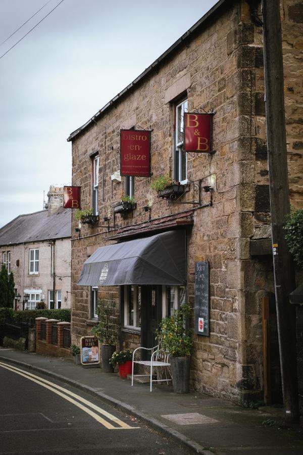
<svg viewBox="0 0 303 455">
<path fill-rule="evenodd" d="M 303 268 L 303 209 L 292 210 L 287 215 L 284 231 L 294 262 Z"/>
</svg>

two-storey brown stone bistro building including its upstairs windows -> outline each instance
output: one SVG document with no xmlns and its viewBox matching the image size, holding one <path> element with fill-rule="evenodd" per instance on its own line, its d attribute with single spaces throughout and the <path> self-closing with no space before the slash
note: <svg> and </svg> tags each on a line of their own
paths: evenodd
<svg viewBox="0 0 303 455">
<path fill-rule="evenodd" d="M 280 3 L 290 198 L 299 208 L 302 5 L 295 0 Z M 237 402 L 263 397 L 265 298 L 270 301 L 271 388 L 276 399 L 280 388 L 262 42 L 262 27 L 252 21 L 248 3 L 221 0 L 68 138 L 73 185 L 81 186 L 82 208 L 93 207 L 97 220 L 82 224 L 76 233 L 73 218 L 73 342 L 90 334 L 99 297 L 116 301 L 120 345 L 149 347 L 163 316 L 182 301 L 194 305 L 195 263 L 208 261 L 210 335 L 194 335 L 191 386 Z M 180 133 L 186 110 L 214 112 L 214 154 L 184 153 Z M 120 129 L 138 127 L 151 130 L 153 174 L 120 178 Z M 150 183 L 160 175 L 184 184 L 182 194 L 176 199 L 157 197 Z M 115 204 L 124 195 L 134 196 L 136 204 L 127 213 L 117 213 Z M 176 232 L 186 236 L 185 283 L 163 279 L 162 284 L 146 286 L 127 281 L 114 287 L 78 285 L 85 260 L 98 247 L 142 238 L 153 242 L 155 235 L 161 239 L 163 233 L 173 237 Z"/>
</svg>

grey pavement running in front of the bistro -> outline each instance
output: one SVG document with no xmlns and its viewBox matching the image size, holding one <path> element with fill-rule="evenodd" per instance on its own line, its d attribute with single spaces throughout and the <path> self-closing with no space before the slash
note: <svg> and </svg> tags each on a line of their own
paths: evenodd
<svg viewBox="0 0 303 455">
<path fill-rule="evenodd" d="M 302 455 L 303 429 L 283 422 L 276 406 L 258 409 L 198 392 L 175 394 L 171 386 L 120 379 L 116 373 L 75 365 L 70 358 L 44 357 L 0 347 L 0 361 L 60 379 L 114 405 L 204 455 Z"/>
</svg>

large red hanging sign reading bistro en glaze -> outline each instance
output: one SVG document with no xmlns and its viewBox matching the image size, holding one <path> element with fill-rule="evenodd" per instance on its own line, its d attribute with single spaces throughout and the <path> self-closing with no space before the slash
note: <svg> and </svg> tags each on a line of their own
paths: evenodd
<svg viewBox="0 0 303 455">
<path fill-rule="evenodd" d="M 121 175 L 150 176 L 150 131 L 120 129 Z"/>
</svg>

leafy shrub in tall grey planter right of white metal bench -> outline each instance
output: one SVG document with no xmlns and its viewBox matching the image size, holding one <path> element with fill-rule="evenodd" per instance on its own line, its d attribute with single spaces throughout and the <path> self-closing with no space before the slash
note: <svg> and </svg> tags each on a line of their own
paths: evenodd
<svg viewBox="0 0 303 455">
<path fill-rule="evenodd" d="M 175 393 L 189 392 L 190 350 L 193 340 L 190 331 L 186 330 L 190 306 L 184 304 L 175 310 L 172 316 L 166 317 L 157 330 L 164 350 L 170 353 L 173 387 Z"/>
</svg>

